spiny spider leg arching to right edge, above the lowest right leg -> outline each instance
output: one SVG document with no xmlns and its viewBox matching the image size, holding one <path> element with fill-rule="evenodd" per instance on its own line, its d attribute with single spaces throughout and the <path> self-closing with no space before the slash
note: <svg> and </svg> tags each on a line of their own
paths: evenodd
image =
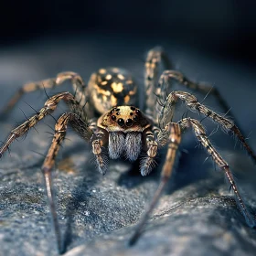
<svg viewBox="0 0 256 256">
<path fill-rule="evenodd" d="M 168 95 L 159 115 L 159 120 L 161 120 L 160 126 L 165 127 L 166 123 L 170 123 L 172 121 L 177 100 L 185 102 L 187 105 L 187 109 L 204 114 L 213 122 L 219 123 L 225 131 L 230 131 L 234 133 L 240 140 L 240 143 L 246 149 L 248 154 L 251 156 L 254 163 L 256 163 L 256 155 L 252 151 L 251 146 L 246 142 L 245 137 L 240 133 L 238 126 L 235 125 L 228 118 L 225 118 L 224 116 L 221 116 L 220 114 L 211 111 L 210 109 L 208 109 L 208 107 L 199 103 L 197 101 L 197 98 L 188 92 L 172 91 Z"/>
</svg>

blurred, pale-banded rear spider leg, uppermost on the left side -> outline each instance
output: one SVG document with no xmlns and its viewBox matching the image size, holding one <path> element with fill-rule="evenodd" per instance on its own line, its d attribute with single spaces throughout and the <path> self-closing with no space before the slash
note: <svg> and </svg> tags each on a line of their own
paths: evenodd
<svg viewBox="0 0 256 256">
<path fill-rule="evenodd" d="M 0 116 L 11 111 L 23 94 L 37 90 L 44 90 L 46 88 L 53 88 L 55 86 L 59 86 L 66 80 L 71 80 L 73 89 L 76 91 L 76 100 L 80 102 L 80 105 L 84 105 L 87 101 L 87 95 L 85 94 L 86 85 L 79 74 L 67 71 L 59 73 L 56 78 L 26 83 L 22 88 L 16 91 L 15 95 L 8 101 L 5 108 L 0 112 Z"/>
</svg>

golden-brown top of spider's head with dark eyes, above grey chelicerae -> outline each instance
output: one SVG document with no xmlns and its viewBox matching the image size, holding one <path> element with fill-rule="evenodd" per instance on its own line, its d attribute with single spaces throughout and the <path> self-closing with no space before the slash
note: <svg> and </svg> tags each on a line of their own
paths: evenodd
<svg viewBox="0 0 256 256">
<path fill-rule="evenodd" d="M 133 106 L 118 106 L 101 115 L 97 125 L 107 132 L 142 133 L 151 124 L 139 109 Z"/>
</svg>

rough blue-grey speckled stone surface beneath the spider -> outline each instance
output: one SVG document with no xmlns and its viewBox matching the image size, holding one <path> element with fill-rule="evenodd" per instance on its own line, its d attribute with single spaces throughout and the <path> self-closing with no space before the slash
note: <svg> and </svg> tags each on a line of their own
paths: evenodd
<svg viewBox="0 0 256 256">
<path fill-rule="evenodd" d="M 1 52 L 0 108 L 23 83 L 53 77 L 63 70 L 77 71 L 88 80 L 94 70 L 118 66 L 130 69 L 142 85 L 141 59 L 146 49 L 159 43 L 187 77 L 214 83 L 226 95 L 242 130 L 246 135 L 252 132 L 250 144 L 256 150 L 256 88 L 252 86 L 255 75 L 246 67 L 212 59 L 159 38 L 111 40 L 91 35 L 9 48 Z M 48 94 L 67 90 L 70 91 L 68 84 Z M 38 110 L 46 99 L 43 91 L 26 95 L 1 121 L 0 140 L 5 140 L 16 122 L 26 119 L 23 112 L 27 116 L 33 114 L 27 104 Z M 205 103 L 221 112 L 210 96 Z M 60 104 L 55 117 L 65 109 Z M 178 113 L 184 112 L 182 107 Z M 54 123 L 48 117 L 38 124 L 25 140 L 12 144 L 10 155 L 6 153 L 0 161 L 0 255 L 58 255 L 40 172 L 51 140 L 45 132 L 52 133 L 48 125 L 54 127 Z M 215 126 L 208 120 L 204 124 L 211 133 Z M 220 129 L 211 139 L 229 161 L 243 198 L 255 216 L 256 167 L 239 146 L 234 149 L 235 141 Z M 90 146 L 69 129 L 54 171 L 65 255 L 255 255 L 256 231 L 247 226 L 221 171 L 215 170 L 210 159 L 204 163 L 207 155 L 197 147 L 192 133 L 185 135 L 181 153 L 180 165 L 141 239 L 129 248 L 127 240 L 157 187 L 164 152 L 150 176 L 140 176 L 136 165 L 123 161 L 112 161 L 109 172 L 101 176 L 95 169 Z"/>
</svg>

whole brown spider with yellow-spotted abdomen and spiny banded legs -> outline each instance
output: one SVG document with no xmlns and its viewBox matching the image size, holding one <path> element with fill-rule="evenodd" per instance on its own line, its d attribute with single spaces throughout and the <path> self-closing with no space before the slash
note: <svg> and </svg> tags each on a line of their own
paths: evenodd
<svg viewBox="0 0 256 256">
<path fill-rule="evenodd" d="M 165 70 L 159 76 L 160 67 L 164 67 Z M 245 137 L 240 133 L 238 126 L 226 118 L 225 115 L 211 111 L 198 102 L 197 98 L 191 93 L 170 90 L 171 80 L 176 80 L 182 86 L 201 93 L 208 93 L 210 88 L 208 85 L 188 80 L 181 72 L 173 70 L 163 48 L 155 47 L 147 53 L 144 64 L 145 101 L 141 109 L 136 106 L 138 101 L 137 86 L 131 74 L 124 69 L 108 68 L 99 69 L 93 73 L 88 85 L 85 84 L 79 74 L 71 71 L 59 73 L 56 78 L 27 83 L 8 102 L 4 112 L 11 110 L 24 93 L 53 88 L 61 85 L 66 80 L 71 81 L 75 91 L 74 94 L 65 91 L 48 97 L 44 107 L 27 119 L 25 123 L 11 131 L 0 148 L 0 156 L 2 156 L 16 138 L 27 133 L 40 120 L 54 112 L 59 101 L 65 101 L 69 106 L 69 112 L 63 113 L 55 125 L 55 134 L 42 165 L 59 253 L 63 251 L 56 205 L 53 200 L 51 170 L 59 153 L 60 144 L 65 138 L 68 124 L 81 138 L 91 144 L 92 154 L 102 175 L 108 170 L 109 158 L 117 159 L 124 156 L 130 161 L 141 159 L 141 175 L 147 176 L 155 167 L 157 152 L 161 147 L 167 145 L 165 164 L 162 167 L 159 186 L 129 240 L 130 245 L 133 245 L 142 234 L 146 220 L 155 208 L 172 174 L 181 135 L 188 128 L 192 128 L 197 141 L 203 145 L 214 163 L 224 172 L 230 188 L 234 192 L 237 205 L 248 225 L 250 227 L 256 226 L 255 219 L 253 219 L 240 197 L 240 192 L 228 163 L 209 141 L 202 123 L 189 117 L 182 118 L 176 123 L 173 122 L 176 101 L 183 101 L 188 110 L 199 112 L 213 122 L 218 123 L 225 131 L 234 133 L 255 163 L 256 155 L 252 152 L 250 145 L 247 144 Z M 211 93 L 217 97 L 225 111 L 229 110 L 219 91 L 211 89 Z M 95 116 L 99 118 L 97 119 Z"/>
</svg>

